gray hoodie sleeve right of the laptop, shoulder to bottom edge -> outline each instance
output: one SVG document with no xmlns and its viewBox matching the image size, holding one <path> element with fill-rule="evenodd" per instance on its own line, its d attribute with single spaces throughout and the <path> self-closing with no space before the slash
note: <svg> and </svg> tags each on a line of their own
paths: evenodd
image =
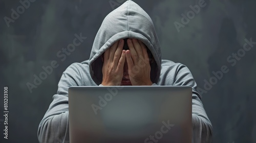
<svg viewBox="0 0 256 143">
<path fill-rule="evenodd" d="M 196 91 L 197 84 L 190 73 L 190 70 L 179 64 L 176 70 L 175 86 L 192 87 L 192 124 L 193 142 L 212 142 L 212 125 L 204 110 L 200 94 Z"/>
</svg>

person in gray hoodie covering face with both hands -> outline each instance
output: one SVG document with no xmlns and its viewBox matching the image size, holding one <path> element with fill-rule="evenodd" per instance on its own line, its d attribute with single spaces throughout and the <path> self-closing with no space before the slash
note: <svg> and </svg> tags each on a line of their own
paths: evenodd
<svg viewBox="0 0 256 143">
<path fill-rule="evenodd" d="M 191 86 L 193 142 L 212 142 L 212 125 L 189 69 L 161 59 L 152 19 L 133 1 L 108 14 L 95 37 L 90 59 L 71 64 L 38 127 L 39 142 L 69 140 L 68 88 L 105 85 Z"/>
</svg>

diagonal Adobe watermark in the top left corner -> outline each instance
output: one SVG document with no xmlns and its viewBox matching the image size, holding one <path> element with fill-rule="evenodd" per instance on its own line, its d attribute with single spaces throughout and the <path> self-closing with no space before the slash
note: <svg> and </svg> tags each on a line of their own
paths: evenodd
<svg viewBox="0 0 256 143">
<path fill-rule="evenodd" d="M 16 10 L 11 9 L 12 13 L 11 13 L 11 18 L 5 16 L 4 20 L 6 22 L 7 27 L 10 27 L 10 23 L 11 22 L 15 22 L 15 20 L 17 20 L 19 18 L 19 16 L 21 14 L 23 14 L 25 12 L 25 9 L 28 9 L 30 7 L 31 3 L 34 3 L 36 0 L 20 0 L 19 3 L 21 4 L 20 6 L 18 6 L 16 8 Z"/>
</svg>

